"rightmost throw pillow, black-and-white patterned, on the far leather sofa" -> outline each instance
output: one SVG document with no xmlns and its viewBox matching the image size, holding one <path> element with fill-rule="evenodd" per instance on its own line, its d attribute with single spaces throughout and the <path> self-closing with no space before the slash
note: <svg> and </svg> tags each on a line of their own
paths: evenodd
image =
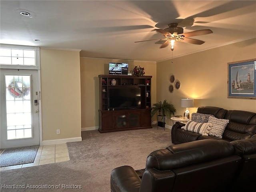
<svg viewBox="0 0 256 192">
<path fill-rule="evenodd" d="M 216 117 L 210 116 L 208 119 L 210 123 L 211 130 L 209 131 L 209 135 L 213 135 L 219 138 L 222 138 L 222 134 L 229 122 L 227 119 L 218 119 Z"/>
</svg>

